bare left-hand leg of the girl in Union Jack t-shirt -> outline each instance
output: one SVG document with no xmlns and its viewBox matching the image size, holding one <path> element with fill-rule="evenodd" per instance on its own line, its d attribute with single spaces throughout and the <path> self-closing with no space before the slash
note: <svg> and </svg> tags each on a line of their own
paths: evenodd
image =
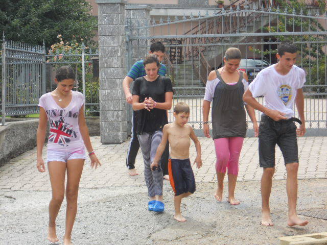
<svg viewBox="0 0 327 245">
<path fill-rule="evenodd" d="M 65 193 L 66 163 L 59 161 L 48 162 L 52 199 L 49 204 L 48 239 L 51 242 L 59 241 L 56 234 L 56 218 Z"/>
</svg>

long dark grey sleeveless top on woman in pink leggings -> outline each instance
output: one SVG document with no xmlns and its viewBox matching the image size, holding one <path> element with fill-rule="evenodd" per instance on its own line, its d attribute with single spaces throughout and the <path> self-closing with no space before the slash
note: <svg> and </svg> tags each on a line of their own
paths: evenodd
<svg viewBox="0 0 327 245">
<path fill-rule="evenodd" d="M 228 85 L 216 70 L 219 83 L 212 103 L 213 138 L 245 137 L 246 115 L 243 102 L 243 72 L 235 85 Z"/>
</svg>

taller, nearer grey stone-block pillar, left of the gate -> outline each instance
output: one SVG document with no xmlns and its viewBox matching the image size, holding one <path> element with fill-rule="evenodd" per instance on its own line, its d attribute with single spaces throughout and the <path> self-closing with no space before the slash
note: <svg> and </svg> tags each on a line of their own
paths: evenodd
<svg viewBox="0 0 327 245">
<path fill-rule="evenodd" d="M 99 27 L 100 135 L 102 143 L 127 139 L 126 101 L 126 0 L 96 0 Z"/>
</svg>

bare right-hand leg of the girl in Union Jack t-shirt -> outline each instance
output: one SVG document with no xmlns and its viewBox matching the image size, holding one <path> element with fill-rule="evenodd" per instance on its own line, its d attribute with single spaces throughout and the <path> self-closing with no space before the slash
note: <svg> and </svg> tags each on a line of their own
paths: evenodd
<svg viewBox="0 0 327 245">
<path fill-rule="evenodd" d="M 66 186 L 66 230 L 63 237 L 64 245 L 71 242 L 72 230 L 77 213 L 77 196 L 80 179 L 82 176 L 84 159 L 71 159 L 67 161 L 67 186 Z"/>
</svg>

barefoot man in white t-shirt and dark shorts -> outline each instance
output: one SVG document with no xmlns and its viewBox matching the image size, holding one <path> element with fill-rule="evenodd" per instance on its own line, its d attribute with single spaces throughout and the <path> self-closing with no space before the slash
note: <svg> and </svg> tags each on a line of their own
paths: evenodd
<svg viewBox="0 0 327 245">
<path fill-rule="evenodd" d="M 292 42 L 282 42 L 277 50 L 278 63 L 259 72 L 244 93 L 243 100 L 256 110 L 262 111 L 259 126 L 259 162 L 264 168 L 261 179 L 262 225 L 273 226 L 270 218 L 269 197 L 272 177 L 275 171 L 275 145 L 279 146 L 287 171 L 288 221 L 289 226 L 305 226 L 296 214 L 297 199 L 297 139 L 296 135 L 306 133 L 303 111 L 304 96 L 302 87 L 306 82 L 305 71 L 295 64 L 297 47 Z M 264 96 L 261 105 L 254 97 Z M 293 117 L 295 101 L 299 119 Z M 296 128 L 294 121 L 300 123 Z"/>
</svg>

